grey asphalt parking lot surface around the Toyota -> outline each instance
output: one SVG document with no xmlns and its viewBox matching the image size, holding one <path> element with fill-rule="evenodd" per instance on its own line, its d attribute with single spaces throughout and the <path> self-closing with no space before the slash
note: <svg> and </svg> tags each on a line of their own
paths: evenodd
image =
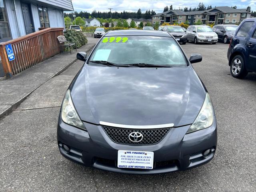
<svg viewBox="0 0 256 192">
<path fill-rule="evenodd" d="M 88 38 L 90 40 L 90 38 Z M 230 75 L 228 44 L 182 45 L 210 93 L 217 117 L 214 159 L 183 172 L 128 175 L 85 168 L 58 151 L 56 125 L 66 88 L 81 68 L 77 61 L 0 119 L 0 191 L 255 191 L 256 74 Z"/>
</svg>

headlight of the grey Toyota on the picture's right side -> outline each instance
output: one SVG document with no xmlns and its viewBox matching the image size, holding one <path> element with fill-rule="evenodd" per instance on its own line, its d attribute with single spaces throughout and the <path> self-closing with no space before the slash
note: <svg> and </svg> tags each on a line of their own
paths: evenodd
<svg viewBox="0 0 256 192">
<path fill-rule="evenodd" d="M 213 111 L 210 95 L 206 92 L 203 106 L 198 116 L 196 117 L 196 120 L 190 126 L 190 128 L 186 133 L 191 133 L 194 131 L 198 131 L 198 130 L 210 127 L 213 123 L 213 116 L 214 116 L 214 111 Z"/>
</svg>

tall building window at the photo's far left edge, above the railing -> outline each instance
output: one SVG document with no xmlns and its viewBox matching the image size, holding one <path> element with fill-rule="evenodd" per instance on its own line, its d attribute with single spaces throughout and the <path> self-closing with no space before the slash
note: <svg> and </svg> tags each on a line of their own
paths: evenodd
<svg viewBox="0 0 256 192">
<path fill-rule="evenodd" d="M 11 33 L 4 8 L 4 1 L 0 0 L 0 42 L 7 41 L 10 38 Z"/>
</svg>

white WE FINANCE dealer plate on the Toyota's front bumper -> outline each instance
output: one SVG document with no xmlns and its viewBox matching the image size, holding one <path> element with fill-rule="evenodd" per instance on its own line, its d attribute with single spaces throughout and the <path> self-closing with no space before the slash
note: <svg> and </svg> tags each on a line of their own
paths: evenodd
<svg viewBox="0 0 256 192">
<path fill-rule="evenodd" d="M 118 150 L 118 168 L 153 169 L 154 152 Z"/>
</svg>

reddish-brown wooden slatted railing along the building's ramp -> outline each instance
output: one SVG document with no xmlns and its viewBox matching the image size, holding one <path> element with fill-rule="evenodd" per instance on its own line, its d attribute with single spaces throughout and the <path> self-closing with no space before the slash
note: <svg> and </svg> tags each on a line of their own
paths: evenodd
<svg viewBox="0 0 256 192">
<path fill-rule="evenodd" d="M 63 35 L 63 28 L 47 28 L 17 39 L 0 43 L 0 57 L 6 77 L 20 73 L 48 58 L 59 54 L 62 47 L 57 37 Z M 15 59 L 8 60 L 5 45 L 12 44 Z"/>
</svg>

